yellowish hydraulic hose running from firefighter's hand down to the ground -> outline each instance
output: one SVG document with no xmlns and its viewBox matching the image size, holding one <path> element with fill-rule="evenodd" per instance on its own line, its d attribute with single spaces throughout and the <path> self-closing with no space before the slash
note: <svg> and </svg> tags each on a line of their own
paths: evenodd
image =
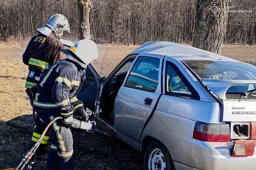
<svg viewBox="0 0 256 170">
<path fill-rule="evenodd" d="M 41 135 L 41 137 L 39 138 L 37 143 L 35 143 L 35 145 L 26 153 L 26 155 L 24 156 L 24 158 L 22 159 L 22 161 L 16 168 L 7 168 L 4 170 L 22 170 L 25 167 L 25 165 L 29 162 L 29 160 L 32 158 L 32 156 L 34 155 L 34 153 L 37 150 L 37 148 L 39 147 L 39 145 L 41 144 L 41 141 L 43 140 L 43 137 L 46 134 L 49 127 L 52 125 L 52 123 L 54 123 L 54 121 L 56 121 L 58 119 L 62 119 L 62 117 L 56 117 L 56 118 L 54 118 L 54 120 L 50 121 L 50 123 L 44 129 L 43 134 Z"/>
</svg>

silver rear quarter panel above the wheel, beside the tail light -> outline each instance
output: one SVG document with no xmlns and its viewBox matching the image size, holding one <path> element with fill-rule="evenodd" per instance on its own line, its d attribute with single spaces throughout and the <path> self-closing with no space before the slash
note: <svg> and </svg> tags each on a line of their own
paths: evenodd
<svg viewBox="0 0 256 170">
<path fill-rule="evenodd" d="M 191 167 L 191 143 L 196 121 L 218 123 L 219 104 L 169 95 L 162 95 L 144 137 L 161 141 L 169 150 L 173 161 Z M 184 168 L 182 168 L 184 169 Z"/>
</svg>

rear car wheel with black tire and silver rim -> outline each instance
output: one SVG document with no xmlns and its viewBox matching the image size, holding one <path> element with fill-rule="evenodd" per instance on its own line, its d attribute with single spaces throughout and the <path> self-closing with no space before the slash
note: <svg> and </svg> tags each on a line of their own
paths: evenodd
<svg viewBox="0 0 256 170">
<path fill-rule="evenodd" d="M 144 170 L 175 170 L 172 157 L 164 144 L 158 141 L 151 142 L 143 159 Z"/>
</svg>

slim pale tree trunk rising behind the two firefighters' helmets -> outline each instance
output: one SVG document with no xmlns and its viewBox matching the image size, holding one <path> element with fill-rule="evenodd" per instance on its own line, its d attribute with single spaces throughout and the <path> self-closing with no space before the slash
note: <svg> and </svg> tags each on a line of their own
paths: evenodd
<svg viewBox="0 0 256 170">
<path fill-rule="evenodd" d="M 90 0 L 77 0 L 79 11 L 79 39 L 90 38 Z"/>
</svg>

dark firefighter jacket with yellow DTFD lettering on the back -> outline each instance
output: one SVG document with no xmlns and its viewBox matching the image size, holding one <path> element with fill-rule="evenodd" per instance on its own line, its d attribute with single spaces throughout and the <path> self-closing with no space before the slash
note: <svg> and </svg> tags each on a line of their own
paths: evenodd
<svg viewBox="0 0 256 170">
<path fill-rule="evenodd" d="M 31 38 L 23 54 L 23 63 L 29 66 L 26 88 L 36 85 L 41 74 L 55 62 L 66 59 L 61 49 L 64 45 L 55 32 L 49 36 L 39 33 Z"/>
</svg>

